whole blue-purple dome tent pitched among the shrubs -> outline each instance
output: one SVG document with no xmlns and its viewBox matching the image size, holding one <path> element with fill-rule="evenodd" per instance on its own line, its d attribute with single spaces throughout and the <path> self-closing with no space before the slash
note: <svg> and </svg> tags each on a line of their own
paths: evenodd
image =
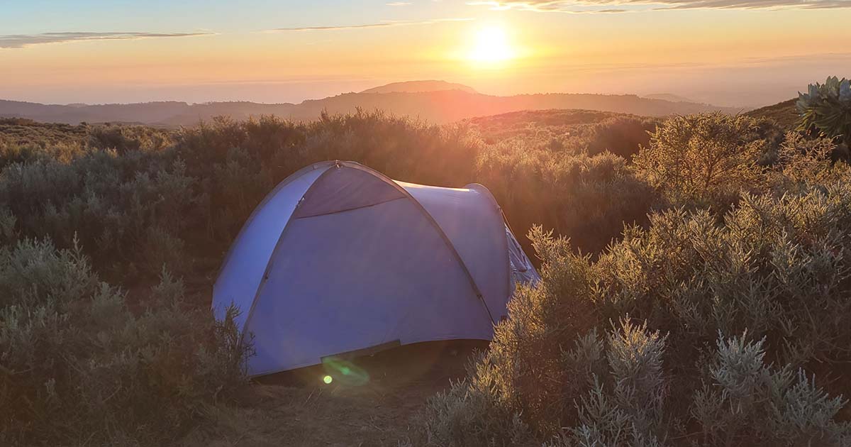
<svg viewBox="0 0 851 447">
<path fill-rule="evenodd" d="M 490 340 L 515 281 L 537 272 L 487 188 L 392 181 L 353 162 L 308 166 L 254 209 L 213 308 L 254 336 L 249 375 L 376 347 Z"/>
</svg>

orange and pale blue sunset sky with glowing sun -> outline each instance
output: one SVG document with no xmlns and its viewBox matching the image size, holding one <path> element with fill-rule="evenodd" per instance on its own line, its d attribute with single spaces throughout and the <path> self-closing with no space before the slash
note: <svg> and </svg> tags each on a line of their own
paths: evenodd
<svg viewBox="0 0 851 447">
<path fill-rule="evenodd" d="M 0 99 L 300 102 L 441 79 L 723 106 L 851 76 L 851 0 L 0 0 Z"/>
</svg>

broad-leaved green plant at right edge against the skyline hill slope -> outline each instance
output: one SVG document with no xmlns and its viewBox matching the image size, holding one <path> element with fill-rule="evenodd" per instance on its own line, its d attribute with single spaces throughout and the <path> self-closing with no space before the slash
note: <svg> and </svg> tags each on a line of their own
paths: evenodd
<svg viewBox="0 0 851 447">
<path fill-rule="evenodd" d="M 831 138 L 851 143 L 851 81 L 828 77 L 825 83 L 809 84 L 807 93 L 798 92 L 799 129 L 819 131 Z"/>
</svg>

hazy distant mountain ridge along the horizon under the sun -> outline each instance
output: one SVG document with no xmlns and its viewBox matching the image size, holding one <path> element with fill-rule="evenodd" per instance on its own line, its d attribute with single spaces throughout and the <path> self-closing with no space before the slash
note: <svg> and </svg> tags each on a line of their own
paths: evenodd
<svg viewBox="0 0 851 447">
<path fill-rule="evenodd" d="M 432 84 L 435 85 L 437 84 Z M 388 86 L 384 88 L 395 89 Z M 41 122 L 69 124 L 111 122 L 176 126 L 192 125 L 223 115 L 234 119 L 277 115 L 296 121 L 310 121 L 319 117 L 322 112 L 350 113 L 358 108 L 368 111 L 379 109 L 393 115 L 410 116 L 431 123 L 451 123 L 470 117 L 547 109 L 585 109 L 652 117 L 711 111 L 743 112 L 741 109 L 730 107 L 647 99 L 637 95 L 558 93 L 494 96 L 461 89 L 441 89 L 426 92 L 347 93 L 322 100 L 305 100 L 299 104 L 259 104 L 246 101 L 187 104 L 179 101 L 160 101 L 63 106 L 0 100 L 0 117 L 25 117 Z"/>
</svg>

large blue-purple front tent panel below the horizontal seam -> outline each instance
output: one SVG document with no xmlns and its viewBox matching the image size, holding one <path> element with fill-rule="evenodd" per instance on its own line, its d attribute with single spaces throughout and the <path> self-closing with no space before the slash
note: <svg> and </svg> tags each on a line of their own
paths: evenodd
<svg viewBox="0 0 851 447">
<path fill-rule="evenodd" d="M 250 375 L 388 341 L 489 340 L 470 278 L 411 200 L 291 221 L 247 330 Z"/>
</svg>

